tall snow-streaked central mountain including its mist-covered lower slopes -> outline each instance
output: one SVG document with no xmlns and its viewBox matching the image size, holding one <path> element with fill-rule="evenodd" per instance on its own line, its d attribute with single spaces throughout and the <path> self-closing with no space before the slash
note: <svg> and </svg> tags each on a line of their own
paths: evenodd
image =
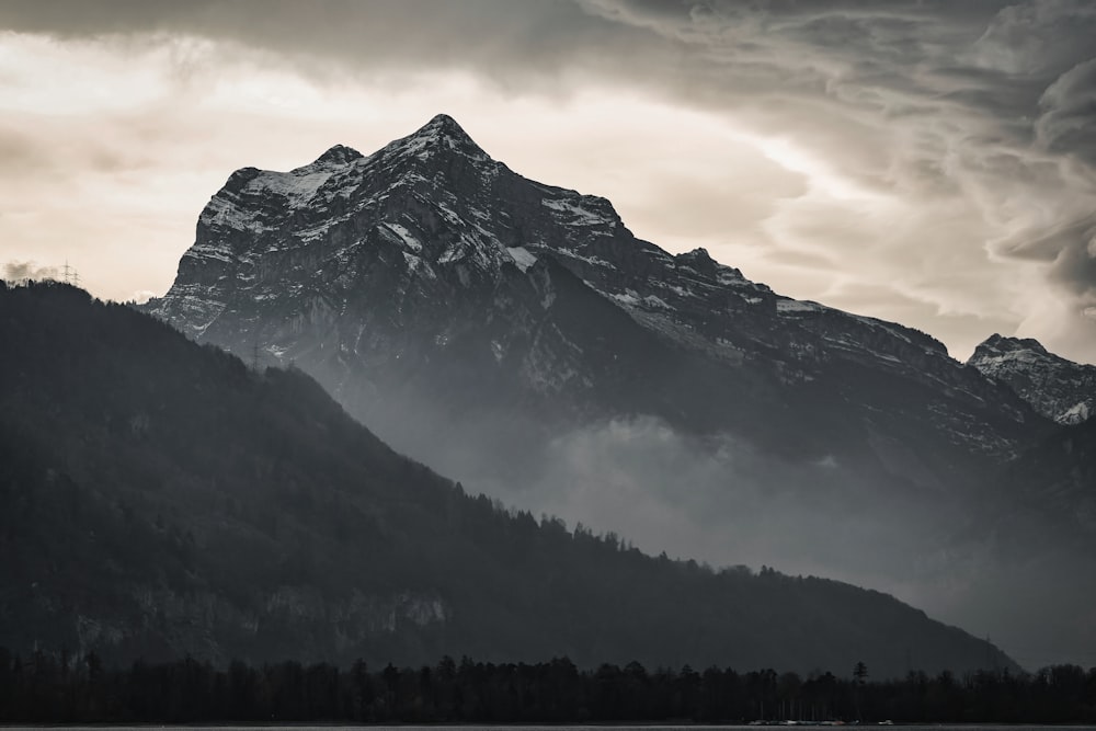
<svg viewBox="0 0 1096 731">
<path fill-rule="evenodd" d="M 986 576 L 1058 557 L 1002 550 L 982 519 L 1025 500 L 989 476 L 1060 429 L 1009 386 L 925 333 L 670 254 L 445 115 L 369 156 L 232 173 L 145 311 L 294 364 L 434 469 L 651 552 L 884 589 L 1032 659 L 1073 658 L 1031 638 L 1087 621 L 1087 603 L 1021 623 L 984 601 Z"/>
</svg>

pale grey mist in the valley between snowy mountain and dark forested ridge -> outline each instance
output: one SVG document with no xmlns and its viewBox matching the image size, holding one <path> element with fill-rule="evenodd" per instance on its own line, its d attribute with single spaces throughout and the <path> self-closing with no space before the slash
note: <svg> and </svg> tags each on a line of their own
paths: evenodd
<svg viewBox="0 0 1096 731">
<path fill-rule="evenodd" d="M 351 411 L 467 492 L 571 529 L 713 568 L 770 567 L 886 592 L 989 637 L 1029 670 L 1096 662 L 1096 589 L 1083 561 L 1038 529 L 973 519 L 979 486 L 927 494 L 898 476 L 867 479 L 835 456 L 797 462 L 651 415 L 553 431 L 516 413 L 439 413 L 414 398 Z"/>
</svg>

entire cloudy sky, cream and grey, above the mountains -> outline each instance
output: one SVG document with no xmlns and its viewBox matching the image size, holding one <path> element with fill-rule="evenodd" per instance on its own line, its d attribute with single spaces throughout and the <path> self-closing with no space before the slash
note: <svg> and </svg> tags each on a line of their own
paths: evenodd
<svg viewBox="0 0 1096 731">
<path fill-rule="evenodd" d="M 5 0 L 0 264 L 162 294 L 232 170 L 438 112 L 781 294 L 1096 363 L 1096 3 Z"/>
</svg>

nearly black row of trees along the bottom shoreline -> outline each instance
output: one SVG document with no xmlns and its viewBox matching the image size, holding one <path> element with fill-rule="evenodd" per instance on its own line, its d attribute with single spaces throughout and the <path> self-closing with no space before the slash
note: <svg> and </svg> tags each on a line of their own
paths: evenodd
<svg viewBox="0 0 1096 731">
<path fill-rule="evenodd" d="M 1092 723 L 1096 667 L 1036 673 L 949 672 L 875 682 L 858 663 L 830 672 L 740 673 L 637 662 L 580 670 L 567 658 L 350 667 L 296 661 L 226 667 L 192 658 L 103 666 L 80 658 L 0 648 L 0 721 L 587 723 L 753 720 Z"/>
</svg>

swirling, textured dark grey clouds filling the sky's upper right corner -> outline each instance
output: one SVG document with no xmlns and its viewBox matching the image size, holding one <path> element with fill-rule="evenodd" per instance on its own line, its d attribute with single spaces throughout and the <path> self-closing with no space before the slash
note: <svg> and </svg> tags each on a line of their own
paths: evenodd
<svg viewBox="0 0 1096 731">
<path fill-rule="evenodd" d="M 1048 281 L 1072 299 L 1072 311 L 1092 305 L 1091 2 L 708 2 L 695 12 L 690 3 L 591 0 L 591 7 L 703 48 L 726 73 L 715 84 L 721 93 L 707 92 L 717 104 L 755 92 L 740 83 L 740 73 L 779 84 L 768 99 L 739 99 L 735 112 L 753 105 L 768 128 L 838 159 L 844 176 L 911 195 L 913 205 L 973 198 L 996 231 L 943 245 L 968 245 L 977 254 L 986 244 L 998 256 L 1050 262 Z M 742 71 L 741 60 L 753 66 Z M 780 83 L 784 78 L 794 82 Z M 815 214 L 795 230 L 840 251 L 848 221 Z M 863 241 L 846 237 L 844 247 L 863 250 Z"/>
</svg>

